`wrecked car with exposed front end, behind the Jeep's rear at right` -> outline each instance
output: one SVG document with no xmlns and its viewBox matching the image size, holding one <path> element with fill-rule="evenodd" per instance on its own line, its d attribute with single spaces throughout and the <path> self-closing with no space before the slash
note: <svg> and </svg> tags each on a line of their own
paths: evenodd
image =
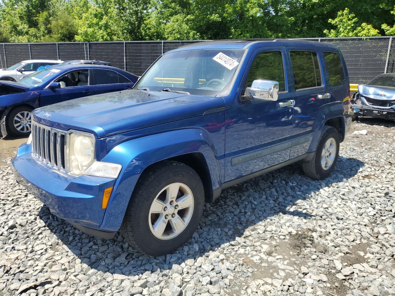
<svg viewBox="0 0 395 296">
<path fill-rule="evenodd" d="M 380 74 L 367 84 L 359 84 L 351 108 L 353 120 L 377 117 L 395 121 L 395 73 Z"/>
</svg>

